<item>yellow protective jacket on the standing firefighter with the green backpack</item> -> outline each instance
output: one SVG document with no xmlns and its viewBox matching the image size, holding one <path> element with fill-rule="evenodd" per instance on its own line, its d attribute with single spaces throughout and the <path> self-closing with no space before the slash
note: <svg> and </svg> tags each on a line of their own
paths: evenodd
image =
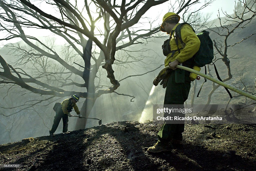
<svg viewBox="0 0 256 171">
<path fill-rule="evenodd" d="M 175 39 L 174 39 L 174 35 L 175 35 L 175 28 L 179 25 L 180 23 L 176 24 L 175 27 L 173 28 L 173 35 L 171 40 L 170 40 L 170 48 L 171 51 L 173 50 L 178 50 L 177 45 L 175 43 Z M 183 63 L 186 60 L 192 58 L 194 56 L 194 54 L 196 54 L 196 52 L 199 50 L 200 47 L 200 40 L 198 39 L 198 37 L 196 36 L 195 32 L 193 31 L 192 27 L 190 27 L 187 24 L 184 24 L 181 28 L 180 28 L 180 34 L 181 34 L 181 38 L 183 40 L 183 42 L 186 44 L 184 49 L 182 48 L 182 45 L 180 43 L 180 40 L 178 38 L 178 47 L 180 50 L 180 53 L 178 51 L 176 51 L 173 55 L 173 57 L 171 57 L 172 53 L 169 53 L 166 56 L 166 59 L 164 61 L 165 66 L 168 66 L 169 62 L 173 62 L 175 61 L 175 59 L 177 59 L 179 61 L 179 63 Z"/>
</svg>

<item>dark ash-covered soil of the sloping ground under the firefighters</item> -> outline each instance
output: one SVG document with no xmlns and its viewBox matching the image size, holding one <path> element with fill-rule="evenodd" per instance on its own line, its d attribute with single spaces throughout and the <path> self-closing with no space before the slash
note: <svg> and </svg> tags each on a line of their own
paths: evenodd
<svg viewBox="0 0 256 171">
<path fill-rule="evenodd" d="M 112 122 L 2 144 L 0 164 L 22 167 L 0 170 L 256 170 L 255 124 L 185 124 L 182 145 L 149 154 L 144 147 L 156 143 L 160 127 L 152 121 Z"/>
</svg>

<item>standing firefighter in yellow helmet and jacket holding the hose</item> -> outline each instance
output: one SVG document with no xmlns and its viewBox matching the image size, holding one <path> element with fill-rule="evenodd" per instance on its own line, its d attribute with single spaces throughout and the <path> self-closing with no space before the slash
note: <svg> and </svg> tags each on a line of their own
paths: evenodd
<svg viewBox="0 0 256 171">
<path fill-rule="evenodd" d="M 183 25 L 180 29 L 182 35 L 181 38 L 186 45 L 185 47 L 182 47 L 180 40 L 175 40 L 175 28 L 180 24 L 178 23 L 179 20 L 180 16 L 173 12 L 168 12 L 163 17 L 160 30 L 170 35 L 170 38 L 166 40 L 168 43 L 166 47 L 170 49 L 170 51 L 166 54 L 163 48 L 163 53 L 166 56 L 165 66 L 169 65 L 169 69 L 159 77 L 156 77 L 153 84 L 157 86 L 158 83 L 162 81 L 160 84 L 163 85 L 163 88 L 166 88 L 164 106 L 178 105 L 179 108 L 184 109 L 184 102 L 187 100 L 190 90 L 190 72 L 178 69 L 176 66 L 182 63 L 183 66 L 189 68 L 193 67 L 191 58 L 198 51 L 200 40 L 192 27 Z M 164 45 L 162 47 L 164 47 Z M 164 117 L 169 115 L 175 116 L 177 114 L 182 116 L 183 113 L 164 113 Z M 163 126 L 157 134 L 157 143 L 154 146 L 149 147 L 147 151 L 151 153 L 159 153 L 172 150 L 173 144 L 182 142 L 184 123 L 185 122 L 182 121 L 182 123 L 169 124 L 168 121 L 164 121 Z"/>
</svg>

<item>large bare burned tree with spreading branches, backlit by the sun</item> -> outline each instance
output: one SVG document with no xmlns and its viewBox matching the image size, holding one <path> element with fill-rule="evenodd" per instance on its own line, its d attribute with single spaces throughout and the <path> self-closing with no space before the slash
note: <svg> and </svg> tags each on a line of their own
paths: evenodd
<svg viewBox="0 0 256 171">
<path fill-rule="evenodd" d="M 123 1 L 122 4 L 106 1 L 85 1 L 84 4 L 77 4 L 78 2 L 76 1 L 74 4 L 70 1 L 47 1 L 45 5 L 48 5 L 49 8 L 58 12 L 55 15 L 48 14 L 46 9 L 40 9 L 40 7 L 31 4 L 29 1 L 10 1 L 11 3 L 1 1 L 2 10 L 5 12 L 1 15 L 1 19 L 5 21 L 1 26 L 9 33 L 9 36 L 2 40 L 19 37 L 31 48 L 30 50 L 20 49 L 27 60 L 47 57 L 57 61 L 66 70 L 80 76 L 84 81 L 83 84 L 67 82 L 59 87 L 46 85 L 44 82 L 35 79 L 33 75 L 26 74 L 25 71 L 15 69 L 8 65 L 5 60 L 1 58 L 1 64 L 4 69 L 4 71 L 1 72 L 3 79 L 1 83 L 17 84 L 22 88 L 41 95 L 65 97 L 70 94 L 78 94 L 80 97 L 86 98 L 81 111 L 83 116 L 88 116 L 98 97 L 102 94 L 113 93 L 120 86 L 119 82 L 115 79 L 114 70 L 112 68 L 116 51 L 132 44 L 140 43 L 138 42 L 139 39 L 146 39 L 158 31 L 158 27 L 149 27 L 145 31 L 142 30 L 142 32 L 144 32 L 142 34 L 140 30 L 133 31 L 129 29 L 129 27 L 135 25 L 149 8 L 166 1 L 167 0 L 147 2 L 131 1 L 129 3 Z M 83 7 L 79 5 L 83 5 Z M 92 8 L 95 9 L 95 14 L 91 12 L 90 9 Z M 28 19 L 28 17 L 32 17 L 33 19 Z M 103 32 L 102 30 L 98 31 L 97 29 L 99 28 L 95 26 L 95 23 L 99 20 L 104 22 Z M 8 27 L 8 24 L 14 27 Z M 83 71 L 77 69 L 77 66 L 68 63 L 67 60 L 63 60 L 54 48 L 48 47 L 35 37 L 26 35 L 24 32 L 24 28 L 26 27 L 47 29 L 55 35 L 64 38 L 69 44 L 69 47 L 72 47 L 79 57 L 82 58 L 83 65 L 81 65 L 81 67 Z M 88 40 L 86 40 L 85 37 L 87 37 Z M 104 37 L 104 40 L 100 41 L 100 37 Z M 125 38 L 129 38 L 129 40 L 122 41 Z M 44 48 L 40 48 L 38 44 Z M 95 54 L 92 54 L 92 48 L 95 45 L 100 48 L 98 58 L 95 57 Z M 93 64 L 91 64 L 92 61 Z M 107 89 L 101 89 L 94 85 L 94 79 L 97 77 L 96 74 L 102 63 L 104 63 L 102 67 L 106 70 L 107 77 L 112 84 L 112 86 Z M 59 73 L 61 72 L 59 71 Z M 52 73 L 52 75 L 53 74 L 54 73 Z M 62 76 L 67 74 L 65 77 L 69 77 L 69 73 L 61 74 Z M 57 74 L 57 77 L 60 77 L 60 75 Z M 39 85 L 40 88 L 35 88 L 28 83 Z M 77 92 L 61 88 L 63 86 L 72 85 L 84 87 L 86 90 Z M 44 88 L 47 88 L 47 90 Z M 77 123 L 76 128 L 84 128 L 85 124 L 86 120 L 83 120 L 82 123 Z"/>
</svg>

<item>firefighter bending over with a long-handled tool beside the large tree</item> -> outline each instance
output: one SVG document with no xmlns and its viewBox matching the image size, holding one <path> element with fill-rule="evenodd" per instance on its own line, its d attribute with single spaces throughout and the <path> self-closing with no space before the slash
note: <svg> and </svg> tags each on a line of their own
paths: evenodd
<svg viewBox="0 0 256 171">
<path fill-rule="evenodd" d="M 82 115 L 80 114 L 80 111 L 76 105 L 76 102 L 79 100 L 79 96 L 74 94 L 69 99 L 65 99 L 61 102 L 61 104 L 58 106 L 56 110 L 56 115 L 54 117 L 53 125 L 51 130 L 49 131 L 50 135 L 54 135 L 54 132 L 58 128 L 58 125 L 60 123 L 60 120 L 62 118 L 63 121 L 63 130 L 62 132 L 65 133 L 68 131 L 68 117 L 71 117 L 70 112 L 74 108 L 77 115 L 79 115 L 79 118 L 82 118 Z"/>
</svg>

